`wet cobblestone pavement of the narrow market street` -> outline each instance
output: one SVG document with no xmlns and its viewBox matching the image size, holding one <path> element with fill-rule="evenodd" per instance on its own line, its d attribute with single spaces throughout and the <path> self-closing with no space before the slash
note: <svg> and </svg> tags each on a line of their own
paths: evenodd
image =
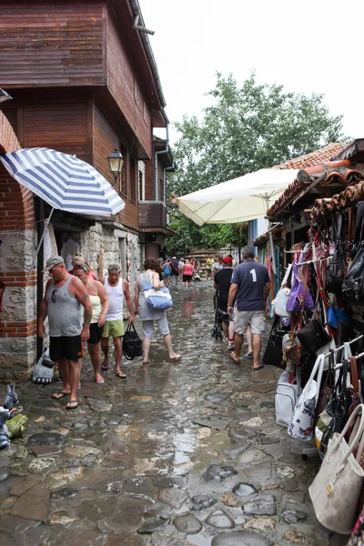
<svg viewBox="0 0 364 546">
<path fill-rule="evenodd" d="M 172 296 L 183 360 L 156 336 L 149 366 L 123 359 L 126 380 L 111 363 L 96 385 L 86 361 L 74 411 L 50 398 L 59 383 L 17 388 L 29 420 L 0 450 L 0 544 L 346 544 L 309 501 L 319 460 L 275 423 L 279 370 L 228 359 L 210 336 L 210 283 Z"/>
</svg>

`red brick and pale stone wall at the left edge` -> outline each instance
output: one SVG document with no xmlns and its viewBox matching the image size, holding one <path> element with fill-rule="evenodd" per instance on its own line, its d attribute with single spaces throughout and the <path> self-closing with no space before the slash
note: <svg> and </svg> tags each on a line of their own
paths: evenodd
<svg viewBox="0 0 364 546">
<path fill-rule="evenodd" d="M 0 110 L 0 154 L 20 145 Z M 0 312 L 0 380 L 27 379 L 35 362 L 36 272 L 26 282 L 35 253 L 34 197 L 0 165 L 0 280 L 5 291 Z"/>
</svg>

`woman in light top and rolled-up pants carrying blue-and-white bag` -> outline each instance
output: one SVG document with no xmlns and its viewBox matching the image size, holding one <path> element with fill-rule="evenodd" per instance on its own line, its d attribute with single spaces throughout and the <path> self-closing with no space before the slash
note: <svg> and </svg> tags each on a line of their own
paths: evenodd
<svg viewBox="0 0 364 546">
<path fill-rule="evenodd" d="M 154 258 L 147 258 L 144 262 L 144 271 L 136 279 L 136 296 L 135 296 L 135 308 L 136 315 L 140 314 L 140 320 L 143 326 L 143 347 L 144 358 L 143 364 L 149 364 L 149 349 L 153 337 L 154 321 L 157 321 L 160 334 L 163 336 L 168 356 L 171 362 L 176 362 L 182 359 L 182 356 L 177 354 L 172 348 L 172 338 L 169 332 L 166 311 L 164 309 L 150 308 L 147 305 L 147 298 L 144 293 L 144 289 L 152 285 L 155 290 L 159 290 L 164 287 L 163 281 L 159 280 L 157 273 L 158 263 Z M 139 298 L 140 298 L 140 312 L 139 312 Z"/>
</svg>

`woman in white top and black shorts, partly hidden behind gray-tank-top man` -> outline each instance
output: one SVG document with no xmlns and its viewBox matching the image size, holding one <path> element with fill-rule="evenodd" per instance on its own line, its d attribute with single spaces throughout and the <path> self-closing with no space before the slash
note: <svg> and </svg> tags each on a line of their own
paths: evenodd
<svg viewBox="0 0 364 546">
<path fill-rule="evenodd" d="M 89 278 L 88 274 L 89 269 L 86 264 L 75 266 L 74 275 L 84 283 L 92 305 L 90 337 L 87 340 L 88 352 L 94 367 L 96 383 L 104 383 L 104 379 L 100 374 L 100 341 L 108 311 L 108 298 L 106 289 L 101 282 Z"/>
</svg>

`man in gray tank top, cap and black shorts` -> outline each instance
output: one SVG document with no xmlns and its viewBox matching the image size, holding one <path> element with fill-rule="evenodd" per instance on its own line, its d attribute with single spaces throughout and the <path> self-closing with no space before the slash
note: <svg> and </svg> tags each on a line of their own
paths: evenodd
<svg viewBox="0 0 364 546">
<path fill-rule="evenodd" d="M 63 389 L 52 398 L 61 399 L 69 395 L 66 410 L 78 406 L 77 387 L 80 380 L 83 344 L 90 337 L 92 305 L 85 285 L 79 278 L 67 273 L 64 259 L 49 258 L 45 271 L 50 279 L 45 286 L 38 317 L 38 336 L 45 336 L 45 318 L 49 323 L 50 357 L 58 364 L 63 379 Z M 84 309 L 84 326 L 81 323 L 81 306 Z"/>
</svg>

